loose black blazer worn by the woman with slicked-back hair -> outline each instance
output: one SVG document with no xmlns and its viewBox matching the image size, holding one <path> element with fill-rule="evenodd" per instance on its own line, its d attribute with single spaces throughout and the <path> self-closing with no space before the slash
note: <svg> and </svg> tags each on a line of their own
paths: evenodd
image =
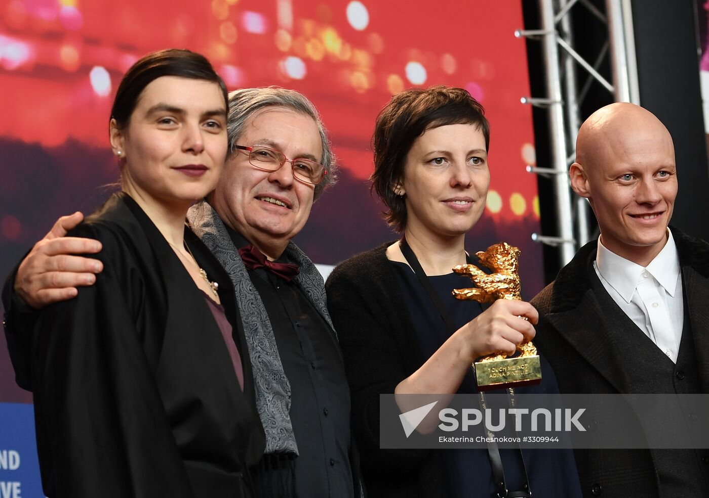
<svg viewBox="0 0 709 498">
<path fill-rule="evenodd" d="M 118 194 L 69 233 L 103 244 L 104 272 L 40 312 L 32 383 L 49 497 L 250 497 L 263 453 L 252 372 L 229 277 L 187 244 L 233 325 L 238 381 L 204 295 L 152 221 Z"/>
</svg>

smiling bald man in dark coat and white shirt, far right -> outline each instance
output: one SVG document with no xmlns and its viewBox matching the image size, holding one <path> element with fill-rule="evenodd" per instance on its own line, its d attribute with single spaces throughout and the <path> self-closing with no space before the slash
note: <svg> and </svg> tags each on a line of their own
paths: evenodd
<svg viewBox="0 0 709 498">
<path fill-rule="evenodd" d="M 532 300 L 535 342 L 562 393 L 708 393 L 709 244 L 668 226 L 678 185 L 669 132 L 637 105 L 601 108 L 579 130 L 569 176 L 601 236 Z M 584 496 L 709 496 L 707 451 L 575 455 Z"/>
</svg>

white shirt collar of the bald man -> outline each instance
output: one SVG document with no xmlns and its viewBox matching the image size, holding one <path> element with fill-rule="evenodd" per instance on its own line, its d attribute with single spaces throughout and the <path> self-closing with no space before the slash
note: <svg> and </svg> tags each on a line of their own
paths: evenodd
<svg viewBox="0 0 709 498">
<path fill-rule="evenodd" d="M 680 272 L 679 255 L 669 228 L 667 233 L 667 243 L 647 267 L 637 265 L 611 252 L 601 243 L 601 237 L 598 237 L 596 250 L 598 272 L 625 302 L 630 303 L 635 287 L 643 278 L 642 274 L 645 271 L 651 274 L 670 296 L 674 297 Z"/>
</svg>

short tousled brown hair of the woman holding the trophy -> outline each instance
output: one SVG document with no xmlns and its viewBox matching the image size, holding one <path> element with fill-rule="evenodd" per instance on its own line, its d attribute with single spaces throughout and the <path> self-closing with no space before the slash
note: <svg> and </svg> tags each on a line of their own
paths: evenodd
<svg viewBox="0 0 709 498">
<path fill-rule="evenodd" d="M 406 156 L 413 142 L 431 128 L 446 125 L 476 125 L 490 146 L 490 125 L 485 110 L 463 88 L 432 86 L 412 88 L 394 95 L 379 112 L 374 125 L 372 189 L 389 208 L 384 219 L 396 231 L 406 228 L 404 197 L 393 191 L 403 179 Z"/>
</svg>

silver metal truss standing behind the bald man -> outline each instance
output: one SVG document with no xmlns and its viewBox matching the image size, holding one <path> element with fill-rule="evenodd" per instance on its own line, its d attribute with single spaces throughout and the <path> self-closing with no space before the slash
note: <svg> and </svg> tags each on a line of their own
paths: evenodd
<svg viewBox="0 0 709 498">
<path fill-rule="evenodd" d="M 576 135 L 581 126 L 579 106 L 584 102 L 594 81 L 610 93 L 615 102 L 640 103 L 635 62 L 635 37 L 632 28 L 630 0 L 605 0 L 605 13 L 590 0 L 539 0 L 541 27 L 517 30 L 516 37 L 542 43 L 547 83 L 544 97 L 523 97 L 522 103 L 545 108 L 551 137 L 549 167 L 527 166 L 527 172 L 551 178 L 557 216 L 557 236 L 532 234 L 532 240 L 559 247 L 563 267 L 576 250 L 590 238 L 588 202 L 571 192 L 569 166 L 576 156 Z M 581 11 L 583 9 L 583 11 Z M 572 15 L 593 16 L 608 28 L 608 41 L 595 59 L 586 60 L 574 50 Z M 613 75 L 608 81 L 598 71 L 610 54 Z M 579 70 L 581 72 L 579 72 Z M 579 76 L 583 75 L 584 78 Z M 583 81 L 583 83 L 581 83 Z M 572 198 L 575 198 L 572 200 Z"/>
</svg>

